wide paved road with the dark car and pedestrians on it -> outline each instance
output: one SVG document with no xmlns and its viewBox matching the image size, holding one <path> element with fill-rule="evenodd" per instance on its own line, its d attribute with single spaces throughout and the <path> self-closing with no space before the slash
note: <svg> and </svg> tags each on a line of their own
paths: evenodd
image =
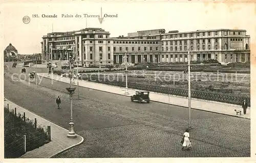
<svg viewBox="0 0 256 163">
<path fill-rule="evenodd" d="M 69 128 L 69 84 L 44 78 L 39 86 L 5 77 L 5 97 L 65 128 Z M 80 88 L 74 100 L 75 131 L 84 143 L 56 157 L 241 157 L 250 156 L 250 121 L 191 110 L 193 149 L 181 151 L 188 109 Z M 55 99 L 61 97 L 61 109 Z M 74 95 L 76 98 L 77 95 Z"/>
</svg>

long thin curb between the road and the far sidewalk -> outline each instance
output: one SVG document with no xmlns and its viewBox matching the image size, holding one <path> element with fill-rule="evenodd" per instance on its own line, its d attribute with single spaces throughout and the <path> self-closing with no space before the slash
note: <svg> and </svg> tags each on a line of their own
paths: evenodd
<svg viewBox="0 0 256 163">
<path fill-rule="evenodd" d="M 41 76 L 41 75 L 38 75 L 38 76 Z M 48 77 L 45 77 L 45 76 L 41 76 L 41 77 L 48 78 Z M 51 78 L 49 78 L 49 79 L 51 79 Z M 58 82 L 62 82 L 62 81 L 59 81 L 59 80 L 56 80 L 56 79 L 52 79 L 52 80 L 55 80 L 55 81 L 58 81 Z M 66 82 L 62 82 L 62 83 L 66 83 Z M 66 83 L 66 84 L 68 84 L 68 83 Z M 83 87 L 83 86 L 79 86 L 79 87 Z M 88 87 L 83 87 L 83 88 L 88 88 Z M 124 94 L 118 94 L 118 93 L 113 93 L 113 92 L 107 92 L 107 91 L 97 90 L 97 89 L 94 89 L 94 88 L 88 88 L 88 89 L 92 89 L 92 90 L 96 90 L 96 91 L 101 91 L 101 92 L 106 92 L 106 93 L 112 93 L 112 94 L 121 95 L 121 96 L 126 96 L 126 97 L 130 97 L 130 96 L 131 96 L 131 95 L 124 95 Z M 177 105 L 177 104 L 170 104 L 170 103 L 160 102 L 160 101 L 156 101 L 156 100 L 151 100 L 151 101 L 158 102 L 158 103 L 169 104 L 169 105 L 174 105 L 174 106 L 179 106 L 179 107 L 188 108 L 188 107 L 186 107 L 186 106 L 180 106 L 180 105 Z M 244 119 L 249 119 L 249 120 L 250 120 L 250 118 L 241 117 L 241 116 L 238 116 L 238 115 L 231 115 L 231 114 L 226 114 L 226 113 L 208 111 L 208 110 L 203 110 L 203 109 L 194 108 L 194 107 L 191 107 L 191 109 L 198 110 L 198 111 L 204 111 L 204 112 L 210 112 L 210 113 L 216 113 L 216 114 L 221 114 L 221 115 L 226 115 L 226 116 L 232 116 L 232 117 L 237 117 L 237 118 L 244 118 Z"/>
</svg>

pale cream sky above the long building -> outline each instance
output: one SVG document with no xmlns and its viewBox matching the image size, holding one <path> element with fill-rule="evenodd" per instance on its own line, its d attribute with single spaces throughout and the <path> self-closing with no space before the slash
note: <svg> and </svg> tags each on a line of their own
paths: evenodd
<svg viewBox="0 0 256 163">
<path fill-rule="evenodd" d="M 103 3 L 102 3 L 103 2 Z M 253 3 L 209 3 L 209 2 L 45 2 L 45 3 L 4 3 L 1 5 L 1 50 L 9 43 L 18 53 L 40 53 L 42 36 L 50 32 L 76 31 L 86 28 L 83 14 L 118 15 L 105 17 L 102 24 L 98 18 L 87 18 L 88 28 L 102 28 L 111 33 L 110 37 L 127 33 L 165 29 L 166 32 L 242 29 L 255 43 L 256 5 Z M 33 18 L 37 14 L 39 18 Z M 42 18 L 41 15 L 57 15 L 58 18 Z M 72 14 L 73 18 L 61 18 L 61 14 Z M 76 18 L 75 15 L 82 15 Z M 23 17 L 29 16 L 25 24 Z M 53 26 L 53 28 L 52 28 Z"/>
</svg>

